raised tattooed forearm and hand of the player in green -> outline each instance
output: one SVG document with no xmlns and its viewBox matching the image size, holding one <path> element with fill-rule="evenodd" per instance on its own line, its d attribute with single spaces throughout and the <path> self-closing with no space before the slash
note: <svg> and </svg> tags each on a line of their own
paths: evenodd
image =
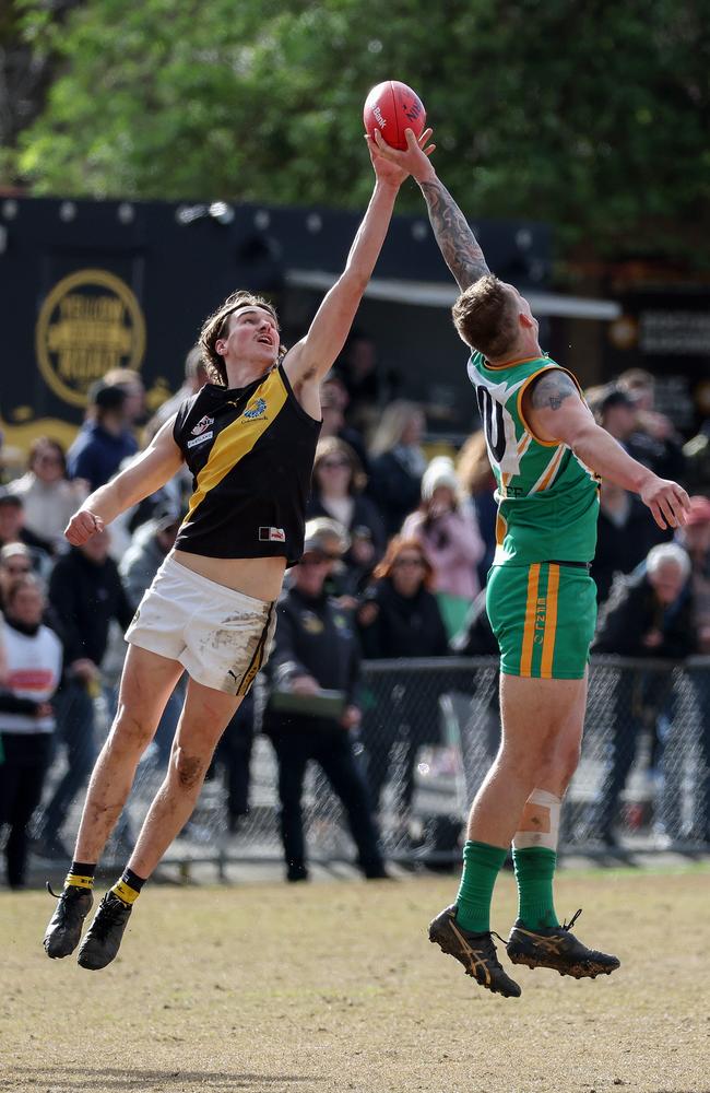
<svg viewBox="0 0 710 1093">
<path fill-rule="evenodd" d="M 437 177 L 434 165 L 422 151 L 412 130 L 406 130 L 405 152 L 386 144 L 379 130 L 375 131 L 375 140 L 380 155 L 400 166 L 402 171 L 406 171 L 418 183 L 439 250 L 461 291 L 489 273 L 483 250 L 476 243 L 465 216 Z"/>
</svg>

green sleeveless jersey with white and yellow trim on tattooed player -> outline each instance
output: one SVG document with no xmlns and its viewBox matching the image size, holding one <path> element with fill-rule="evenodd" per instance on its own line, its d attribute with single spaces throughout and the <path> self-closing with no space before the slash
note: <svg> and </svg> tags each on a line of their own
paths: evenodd
<svg viewBox="0 0 710 1093">
<path fill-rule="evenodd" d="M 469 362 L 498 484 L 494 565 L 594 557 L 599 481 L 566 444 L 534 436 L 522 411 L 525 388 L 558 367 L 547 356 L 494 366 L 474 353 Z"/>
</svg>

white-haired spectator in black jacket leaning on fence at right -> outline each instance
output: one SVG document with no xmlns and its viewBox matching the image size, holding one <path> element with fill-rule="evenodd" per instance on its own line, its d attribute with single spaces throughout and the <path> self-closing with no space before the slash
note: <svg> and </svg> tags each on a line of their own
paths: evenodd
<svg viewBox="0 0 710 1093">
<path fill-rule="evenodd" d="M 593 651 L 675 660 L 695 653 L 689 574 L 690 560 L 682 546 L 653 546 L 643 568 L 614 581 Z M 614 681 L 611 769 L 592 812 L 593 833 L 608 846 L 617 842 L 616 810 L 636 756 L 639 710 L 650 707 L 655 720 L 672 701 L 671 673 L 623 670 Z"/>
</svg>

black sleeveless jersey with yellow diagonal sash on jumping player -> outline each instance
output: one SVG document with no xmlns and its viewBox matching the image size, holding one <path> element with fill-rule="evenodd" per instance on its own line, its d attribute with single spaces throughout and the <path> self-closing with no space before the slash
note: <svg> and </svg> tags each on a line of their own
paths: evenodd
<svg viewBox="0 0 710 1093">
<path fill-rule="evenodd" d="M 176 548 L 295 565 L 319 433 L 281 364 L 248 387 L 205 384 L 173 430 L 193 490 Z"/>
</svg>

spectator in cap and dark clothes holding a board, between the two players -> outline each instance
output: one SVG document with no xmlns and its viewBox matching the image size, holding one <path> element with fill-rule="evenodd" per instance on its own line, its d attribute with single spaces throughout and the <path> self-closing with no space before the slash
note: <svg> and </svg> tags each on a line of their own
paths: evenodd
<svg viewBox="0 0 710 1093">
<path fill-rule="evenodd" d="M 308 879 L 301 796 L 306 767 L 315 760 L 343 803 L 359 868 L 368 879 L 383 878 L 387 872 L 369 795 L 353 749 L 352 733 L 360 720 L 357 637 L 348 614 L 323 590 L 336 555 L 311 528 L 311 524 L 306 526 L 304 555 L 293 585 L 279 601 L 269 661 L 270 700 L 263 718 L 263 731 L 271 737 L 279 761 L 286 877 L 289 881 Z M 338 692 L 342 708 L 323 709 L 323 691 Z"/>
</svg>

